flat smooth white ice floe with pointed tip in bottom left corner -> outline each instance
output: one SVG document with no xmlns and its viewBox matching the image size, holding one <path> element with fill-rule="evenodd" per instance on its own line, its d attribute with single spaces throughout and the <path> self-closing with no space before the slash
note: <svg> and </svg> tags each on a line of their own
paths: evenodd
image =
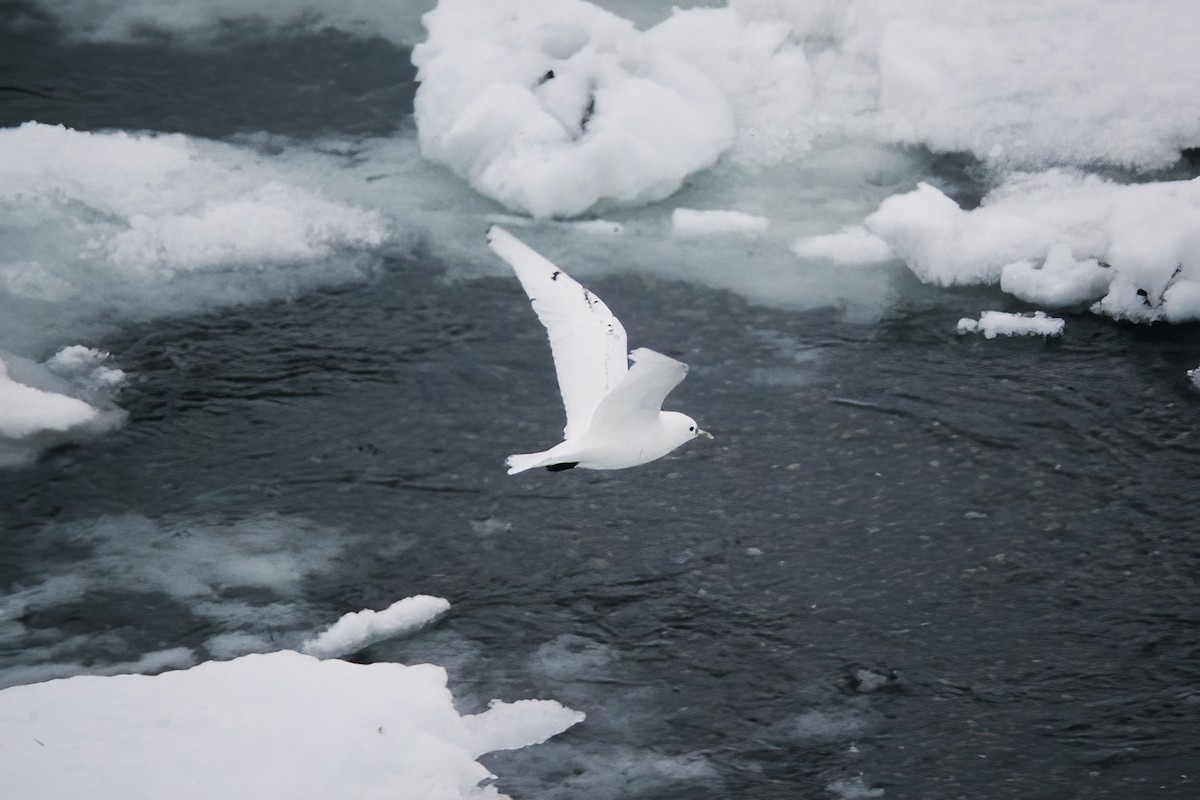
<svg viewBox="0 0 1200 800">
<path fill-rule="evenodd" d="M 463 717 L 440 667 L 282 651 L 0 691 L 0 784 L 46 799 L 499 798 L 475 758 L 582 720 L 553 700 Z"/>
</svg>

